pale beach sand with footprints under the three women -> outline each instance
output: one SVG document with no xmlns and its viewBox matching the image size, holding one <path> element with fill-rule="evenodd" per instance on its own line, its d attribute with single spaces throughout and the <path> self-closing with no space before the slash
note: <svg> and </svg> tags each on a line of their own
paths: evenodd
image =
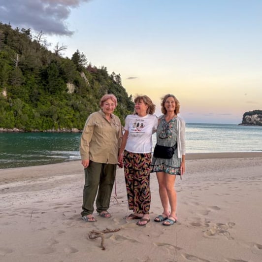
<svg viewBox="0 0 262 262">
<path fill-rule="evenodd" d="M 261 262 L 262 153 L 188 154 L 176 180 L 178 222 L 162 213 L 151 174 L 151 221 L 130 214 L 123 169 L 117 170 L 109 219 L 80 217 L 80 161 L 0 169 L 0 261 L 4 262 Z M 117 195 L 116 195 L 117 193 Z M 90 239 L 92 230 L 116 230 Z M 118 231 L 117 231 L 118 230 Z M 94 234 L 93 234 L 94 235 Z"/>
</svg>

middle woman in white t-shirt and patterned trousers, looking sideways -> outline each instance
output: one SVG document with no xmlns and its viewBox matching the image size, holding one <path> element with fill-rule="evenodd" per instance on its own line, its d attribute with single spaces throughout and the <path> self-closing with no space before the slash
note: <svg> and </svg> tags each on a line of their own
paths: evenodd
<svg viewBox="0 0 262 262">
<path fill-rule="evenodd" d="M 133 211 L 126 219 L 140 219 L 136 225 L 145 226 L 150 221 L 152 133 L 157 130 L 158 118 L 149 97 L 137 96 L 134 103 L 134 114 L 126 118 L 118 161 L 124 164 L 128 205 Z"/>
</svg>

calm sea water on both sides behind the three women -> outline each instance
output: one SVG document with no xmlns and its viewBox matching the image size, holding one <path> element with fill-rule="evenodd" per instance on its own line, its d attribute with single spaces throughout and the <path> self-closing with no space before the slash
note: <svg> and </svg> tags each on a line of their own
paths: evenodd
<svg viewBox="0 0 262 262">
<path fill-rule="evenodd" d="M 81 133 L 0 132 L 0 168 L 80 161 L 80 136 Z M 188 123 L 186 152 L 262 152 L 262 127 Z"/>
</svg>

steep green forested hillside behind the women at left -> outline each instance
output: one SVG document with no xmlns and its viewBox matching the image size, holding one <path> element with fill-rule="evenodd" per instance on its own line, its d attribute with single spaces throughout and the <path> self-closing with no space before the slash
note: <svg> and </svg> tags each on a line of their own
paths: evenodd
<svg viewBox="0 0 262 262">
<path fill-rule="evenodd" d="M 115 114 L 124 123 L 133 102 L 120 74 L 92 66 L 79 50 L 63 58 L 66 46 L 57 43 L 52 51 L 47 46 L 42 32 L 32 35 L 0 23 L 0 128 L 82 130 L 107 93 L 118 98 Z"/>
</svg>

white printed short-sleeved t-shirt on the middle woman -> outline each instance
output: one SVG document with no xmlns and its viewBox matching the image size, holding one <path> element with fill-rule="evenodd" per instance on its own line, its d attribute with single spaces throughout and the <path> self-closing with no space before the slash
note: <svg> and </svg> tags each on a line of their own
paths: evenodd
<svg viewBox="0 0 262 262">
<path fill-rule="evenodd" d="M 156 115 L 128 115 L 125 130 L 129 131 L 126 150 L 132 153 L 152 152 L 152 133 L 158 128 Z"/>
</svg>

